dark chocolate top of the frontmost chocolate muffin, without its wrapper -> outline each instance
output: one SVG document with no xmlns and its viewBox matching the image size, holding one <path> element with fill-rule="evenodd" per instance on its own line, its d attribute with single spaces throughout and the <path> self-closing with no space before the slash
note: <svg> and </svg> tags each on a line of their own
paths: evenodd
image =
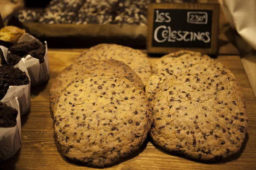
<svg viewBox="0 0 256 170">
<path fill-rule="evenodd" d="M 14 127 L 18 111 L 0 102 L 0 127 Z"/>
</svg>

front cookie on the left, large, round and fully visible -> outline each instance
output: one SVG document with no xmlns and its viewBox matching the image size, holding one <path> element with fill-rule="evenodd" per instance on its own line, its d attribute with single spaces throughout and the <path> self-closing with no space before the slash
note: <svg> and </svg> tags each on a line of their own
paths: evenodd
<svg viewBox="0 0 256 170">
<path fill-rule="evenodd" d="M 139 149 L 150 130 L 151 116 L 144 91 L 133 82 L 96 76 L 61 93 L 54 128 L 65 156 L 105 167 Z"/>
</svg>

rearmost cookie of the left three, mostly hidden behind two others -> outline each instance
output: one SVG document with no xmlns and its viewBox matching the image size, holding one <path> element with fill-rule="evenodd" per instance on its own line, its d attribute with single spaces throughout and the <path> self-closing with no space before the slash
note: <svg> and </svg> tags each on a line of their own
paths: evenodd
<svg viewBox="0 0 256 170">
<path fill-rule="evenodd" d="M 135 50 L 126 46 L 99 44 L 82 53 L 77 61 L 85 59 L 115 59 L 121 61 L 131 67 L 131 69 L 140 77 L 144 85 L 146 85 L 151 76 L 151 64 L 147 55 L 140 50 Z"/>
</svg>

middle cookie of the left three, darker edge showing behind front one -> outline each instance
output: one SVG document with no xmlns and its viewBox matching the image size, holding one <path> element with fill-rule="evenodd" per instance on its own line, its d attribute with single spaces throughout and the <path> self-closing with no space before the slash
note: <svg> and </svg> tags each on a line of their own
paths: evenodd
<svg viewBox="0 0 256 170">
<path fill-rule="evenodd" d="M 137 74 L 135 74 L 128 65 L 125 65 L 122 62 L 113 59 L 99 61 L 95 59 L 87 59 L 65 68 L 52 83 L 49 96 L 51 113 L 53 112 L 55 100 L 58 98 L 61 90 L 70 83 L 89 76 L 89 74 L 91 76 L 110 75 L 125 77 L 129 81 L 136 83 L 139 88 L 143 89 L 144 87 Z"/>
</svg>

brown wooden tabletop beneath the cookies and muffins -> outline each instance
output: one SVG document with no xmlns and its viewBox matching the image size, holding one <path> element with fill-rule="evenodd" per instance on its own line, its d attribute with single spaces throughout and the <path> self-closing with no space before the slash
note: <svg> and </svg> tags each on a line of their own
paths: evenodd
<svg viewBox="0 0 256 170">
<path fill-rule="evenodd" d="M 64 158 L 56 142 L 53 121 L 49 113 L 49 88 L 55 77 L 83 51 L 82 49 L 50 49 L 50 79 L 31 91 L 31 109 L 22 120 L 22 147 L 14 157 L 0 164 L 0 170 L 55 170 L 93 169 Z M 157 58 L 150 58 L 154 62 Z M 109 170 L 253 170 L 256 169 L 256 99 L 238 55 L 220 55 L 217 58 L 233 71 L 244 90 L 249 127 L 246 140 L 238 154 L 225 161 L 201 163 L 164 152 L 147 139 L 143 146 Z"/>
</svg>

